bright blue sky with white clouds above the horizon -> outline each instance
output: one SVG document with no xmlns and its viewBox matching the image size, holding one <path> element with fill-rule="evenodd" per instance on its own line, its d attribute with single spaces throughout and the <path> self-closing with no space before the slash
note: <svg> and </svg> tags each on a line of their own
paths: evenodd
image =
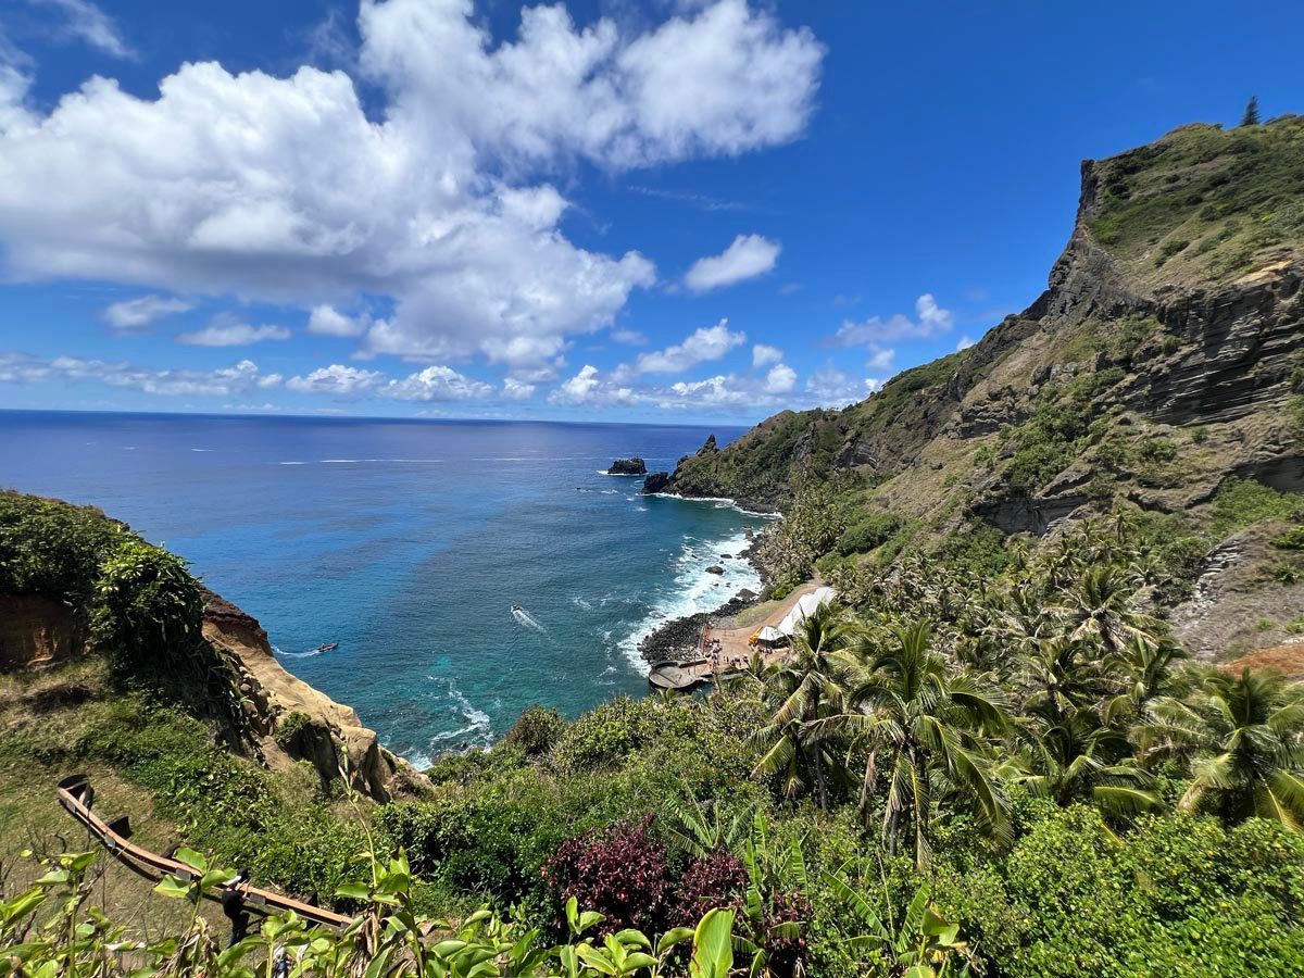
<svg viewBox="0 0 1304 978">
<path fill-rule="evenodd" d="M 1297 4 L 0 9 L 0 407 L 743 421 L 1043 288 Z"/>
</svg>

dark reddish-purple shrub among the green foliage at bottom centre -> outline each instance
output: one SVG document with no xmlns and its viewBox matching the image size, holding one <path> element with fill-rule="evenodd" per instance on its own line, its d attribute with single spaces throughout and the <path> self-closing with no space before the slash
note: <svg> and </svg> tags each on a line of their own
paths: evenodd
<svg viewBox="0 0 1304 978">
<path fill-rule="evenodd" d="M 670 861 L 652 836 L 652 815 L 618 822 L 593 838 L 570 838 L 544 863 L 558 904 L 575 897 L 602 914 L 602 934 L 626 927 L 660 931 L 670 892 Z"/>
</svg>

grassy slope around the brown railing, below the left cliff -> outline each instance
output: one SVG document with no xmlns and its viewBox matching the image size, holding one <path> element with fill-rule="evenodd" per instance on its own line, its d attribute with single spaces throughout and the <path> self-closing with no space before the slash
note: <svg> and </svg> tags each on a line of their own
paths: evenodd
<svg viewBox="0 0 1304 978">
<path fill-rule="evenodd" d="M 215 734 L 156 694 L 120 687 L 102 659 L 0 675 L 0 865 L 14 874 L 9 885 L 30 875 L 17 857 L 37 840 L 91 848 L 55 797 L 63 777 L 86 772 L 98 807 L 130 815 L 137 841 L 155 852 L 180 842 L 252 870 L 262 884 L 334 893 L 363 848 L 349 807 L 325 795 L 306 764 L 273 775 Z M 305 849 L 304 838 L 321 841 Z M 173 911 L 171 901 L 138 908 L 145 884 L 102 862 L 112 904 L 147 910 L 145 923 L 166 922 L 154 914 Z"/>
</svg>

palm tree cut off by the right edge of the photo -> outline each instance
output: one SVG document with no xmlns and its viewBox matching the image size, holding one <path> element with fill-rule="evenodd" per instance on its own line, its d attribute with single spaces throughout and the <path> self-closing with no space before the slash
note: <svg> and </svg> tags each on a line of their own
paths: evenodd
<svg viewBox="0 0 1304 978">
<path fill-rule="evenodd" d="M 1179 811 L 1208 807 L 1226 820 L 1251 815 L 1304 831 L 1304 685 L 1270 672 L 1215 673 L 1188 702 L 1150 704 L 1153 752 L 1193 759 Z"/>
</svg>

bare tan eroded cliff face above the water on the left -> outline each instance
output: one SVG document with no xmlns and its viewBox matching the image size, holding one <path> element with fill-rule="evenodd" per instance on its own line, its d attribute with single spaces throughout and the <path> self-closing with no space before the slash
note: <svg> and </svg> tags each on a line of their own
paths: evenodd
<svg viewBox="0 0 1304 978">
<path fill-rule="evenodd" d="M 270 767 L 308 760 L 323 781 L 347 773 L 357 790 L 377 801 L 389 801 L 425 781 L 411 764 L 381 746 L 376 732 L 363 725 L 352 707 L 286 672 L 257 618 L 211 592 L 206 595 L 203 636 L 233 669 L 245 715 Z"/>
</svg>

